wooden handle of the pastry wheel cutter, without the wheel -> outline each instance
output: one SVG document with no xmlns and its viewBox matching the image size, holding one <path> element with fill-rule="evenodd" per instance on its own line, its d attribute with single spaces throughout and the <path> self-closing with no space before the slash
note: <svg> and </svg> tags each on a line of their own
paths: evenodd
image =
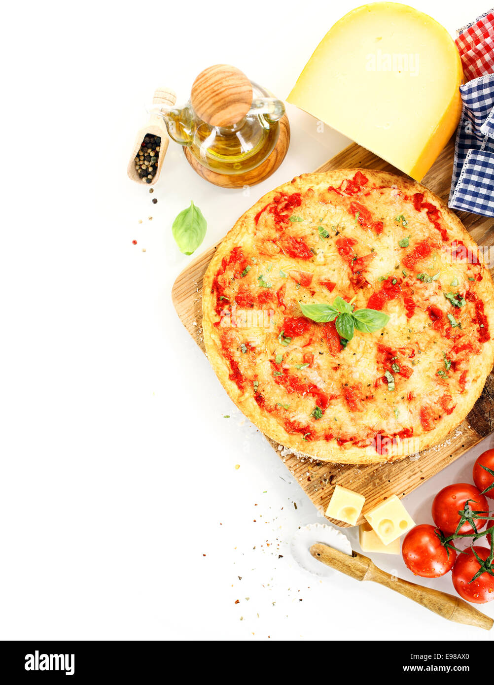
<svg viewBox="0 0 494 685">
<path fill-rule="evenodd" d="M 432 588 L 424 588 L 421 585 L 410 583 L 408 580 L 392 576 L 386 571 L 378 569 L 369 558 L 358 552 L 353 552 L 349 556 L 338 551 L 338 549 L 317 543 L 317 545 L 310 547 L 310 553 L 314 559 L 323 562 L 326 566 L 331 566 L 336 571 L 341 571 L 341 573 L 345 573 L 345 575 L 356 580 L 371 580 L 384 585 L 386 588 L 412 599 L 417 604 L 425 606 L 434 614 L 443 616 L 443 619 L 448 621 L 476 625 L 479 628 L 484 628 L 484 630 L 491 630 L 493 626 L 493 619 L 482 614 L 460 597 L 441 593 L 439 590 L 432 590 Z"/>
</svg>

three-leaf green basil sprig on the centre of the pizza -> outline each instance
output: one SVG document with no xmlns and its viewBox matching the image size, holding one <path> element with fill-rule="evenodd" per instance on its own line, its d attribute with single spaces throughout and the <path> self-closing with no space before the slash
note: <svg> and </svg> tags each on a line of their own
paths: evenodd
<svg viewBox="0 0 494 685">
<path fill-rule="evenodd" d="M 354 311 L 351 302 L 335 297 L 332 304 L 304 304 L 299 302 L 302 314 L 316 323 L 327 323 L 336 319 L 336 331 L 346 340 L 354 337 L 354 329 L 362 333 L 373 333 L 389 321 L 388 314 L 376 309 Z"/>
</svg>

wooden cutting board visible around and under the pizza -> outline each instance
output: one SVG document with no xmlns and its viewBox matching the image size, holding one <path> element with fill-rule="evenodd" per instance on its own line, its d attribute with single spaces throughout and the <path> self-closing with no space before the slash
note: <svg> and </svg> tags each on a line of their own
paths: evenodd
<svg viewBox="0 0 494 685">
<path fill-rule="evenodd" d="M 454 144 L 453 141 L 445 147 L 432 169 L 423 179 L 423 185 L 435 192 L 444 200 L 449 194 L 452 177 Z M 376 157 L 368 150 L 352 143 L 329 162 L 320 166 L 316 171 L 332 171 L 360 167 L 361 169 L 379 169 L 391 171 L 403 176 L 384 160 Z M 458 216 L 478 245 L 494 245 L 494 219 L 458 212 Z M 172 299 L 180 320 L 194 338 L 202 351 L 204 343 L 201 329 L 201 287 L 204 272 L 217 247 L 211 247 L 195 259 L 177 277 L 172 289 Z M 491 418 L 492 417 L 492 418 Z M 288 455 L 282 456 L 279 445 L 267 438 L 277 455 L 282 458 L 293 477 L 297 479 L 305 493 L 310 497 L 317 509 L 324 514 L 336 484 L 364 495 L 365 510 L 371 509 L 385 497 L 397 495 L 404 497 L 415 490 L 417 486 L 432 477 L 447 464 L 450 464 L 467 449 L 476 445 L 486 435 L 494 430 L 494 374 L 487 378 L 485 388 L 467 419 L 448 436 L 440 445 L 421 452 L 417 457 L 407 457 L 403 460 L 356 466 L 354 464 L 328 464 L 313 460 L 310 457 L 300 458 Z M 332 519 L 329 519 L 332 521 Z M 358 523 L 364 521 L 360 516 Z M 334 521 L 341 526 L 347 524 Z"/>
</svg>

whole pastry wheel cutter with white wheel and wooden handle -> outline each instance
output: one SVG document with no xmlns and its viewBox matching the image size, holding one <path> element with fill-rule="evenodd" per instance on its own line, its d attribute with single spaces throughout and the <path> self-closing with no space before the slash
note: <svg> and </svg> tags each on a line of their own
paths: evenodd
<svg viewBox="0 0 494 685">
<path fill-rule="evenodd" d="M 312 523 L 300 528 L 292 540 L 291 553 L 310 573 L 328 576 L 332 575 L 332 569 L 341 571 L 356 580 L 371 580 L 395 590 L 448 621 L 476 625 L 484 630 L 493 626 L 493 619 L 460 597 L 410 583 L 378 569 L 369 558 L 352 551 L 347 536 L 332 525 Z"/>
</svg>

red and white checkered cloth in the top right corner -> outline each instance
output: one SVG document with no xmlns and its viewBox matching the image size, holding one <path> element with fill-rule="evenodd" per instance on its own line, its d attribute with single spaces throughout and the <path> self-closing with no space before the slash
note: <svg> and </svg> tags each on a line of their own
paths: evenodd
<svg viewBox="0 0 494 685">
<path fill-rule="evenodd" d="M 460 29 L 455 42 L 465 81 L 494 73 L 494 9 Z"/>
</svg>

